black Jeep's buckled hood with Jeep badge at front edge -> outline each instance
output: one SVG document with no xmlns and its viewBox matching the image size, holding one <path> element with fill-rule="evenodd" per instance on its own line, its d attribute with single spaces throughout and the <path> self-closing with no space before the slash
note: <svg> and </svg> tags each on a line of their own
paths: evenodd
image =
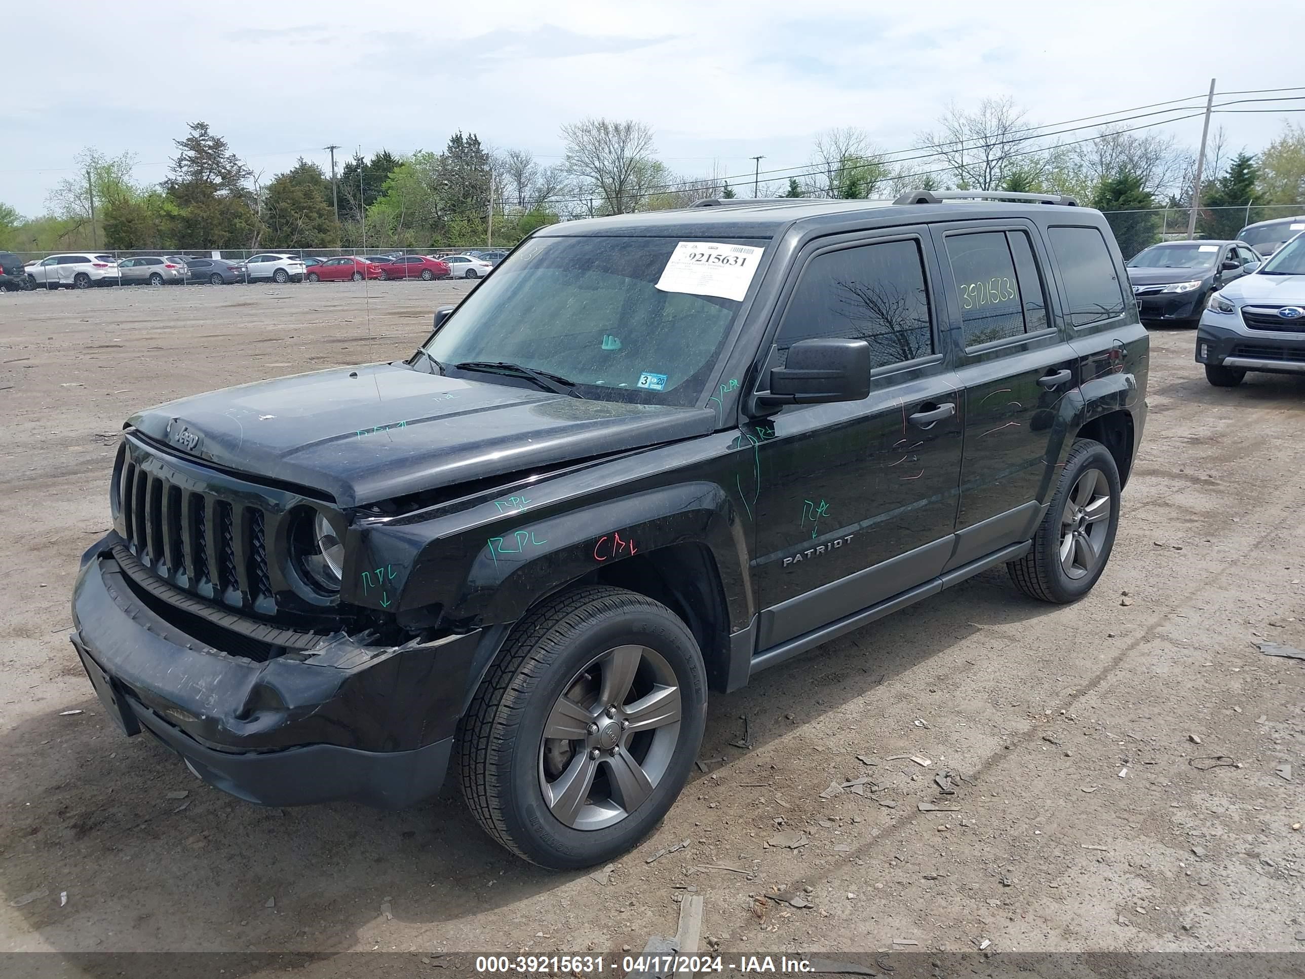
<svg viewBox="0 0 1305 979">
<path fill-rule="evenodd" d="M 183 398 L 128 424 L 180 454 L 354 506 L 707 435 L 715 415 L 368 364 Z"/>
</svg>

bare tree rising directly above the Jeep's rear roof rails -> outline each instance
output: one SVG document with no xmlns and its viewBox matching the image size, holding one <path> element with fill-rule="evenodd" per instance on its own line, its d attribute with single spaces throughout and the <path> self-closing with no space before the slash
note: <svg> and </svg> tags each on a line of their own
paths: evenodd
<svg viewBox="0 0 1305 979">
<path fill-rule="evenodd" d="M 924 149 L 938 155 L 958 187 L 993 191 L 1017 163 L 1027 167 L 1030 151 L 1039 146 L 1028 132 L 1026 115 L 1009 95 L 983 99 L 972 112 L 953 103 L 938 120 L 938 128 L 919 138 Z"/>
</svg>

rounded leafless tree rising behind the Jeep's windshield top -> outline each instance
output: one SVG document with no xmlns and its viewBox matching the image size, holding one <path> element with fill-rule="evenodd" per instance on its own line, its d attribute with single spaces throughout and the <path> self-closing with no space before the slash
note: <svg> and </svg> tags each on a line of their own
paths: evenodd
<svg viewBox="0 0 1305 979">
<path fill-rule="evenodd" d="M 576 178 L 579 193 L 598 198 L 607 214 L 634 210 L 652 185 L 651 172 L 662 167 L 652 157 L 652 129 L 633 119 L 585 119 L 564 125 L 562 138 L 562 166 Z"/>
</svg>

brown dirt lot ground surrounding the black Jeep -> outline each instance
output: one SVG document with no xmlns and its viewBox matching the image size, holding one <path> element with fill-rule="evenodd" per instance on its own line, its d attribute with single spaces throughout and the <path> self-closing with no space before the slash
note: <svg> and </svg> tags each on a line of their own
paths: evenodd
<svg viewBox="0 0 1305 979">
<path fill-rule="evenodd" d="M 706 771 L 609 873 L 518 862 L 448 787 L 399 813 L 264 809 L 120 736 L 67 632 L 123 419 L 407 356 L 465 292 L 0 295 L 0 950 L 620 956 L 673 935 L 685 894 L 728 954 L 1305 949 L 1305 662 L 1254 645 L 1305 647 L 1305 382 L 1211 388 L 1189 330 L 1152 334 L 1088 598 L 1039 604 L 993 570 L 715 697 Z M 808 842 L 769 846 L 782 830 Z"/>
</svg>

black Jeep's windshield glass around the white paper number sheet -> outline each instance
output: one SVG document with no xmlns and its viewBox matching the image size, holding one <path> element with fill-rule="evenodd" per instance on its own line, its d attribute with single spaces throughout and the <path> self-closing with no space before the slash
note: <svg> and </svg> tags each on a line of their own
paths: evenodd
<svg viewBox="0 0 1305 979">
<path fill-rule="evenodd" d="M 527 241 L 463 300 L 425 350 L 450 372 L 468 360 L 509 362 L 565 377 L 586 398 L 693 405 L 740 303 L 658 288 L 677 244 L 606 236 Z M 739 251 L 758 255 L 765 241 L 718 244 L 750 245 Z"/>
</svg>

